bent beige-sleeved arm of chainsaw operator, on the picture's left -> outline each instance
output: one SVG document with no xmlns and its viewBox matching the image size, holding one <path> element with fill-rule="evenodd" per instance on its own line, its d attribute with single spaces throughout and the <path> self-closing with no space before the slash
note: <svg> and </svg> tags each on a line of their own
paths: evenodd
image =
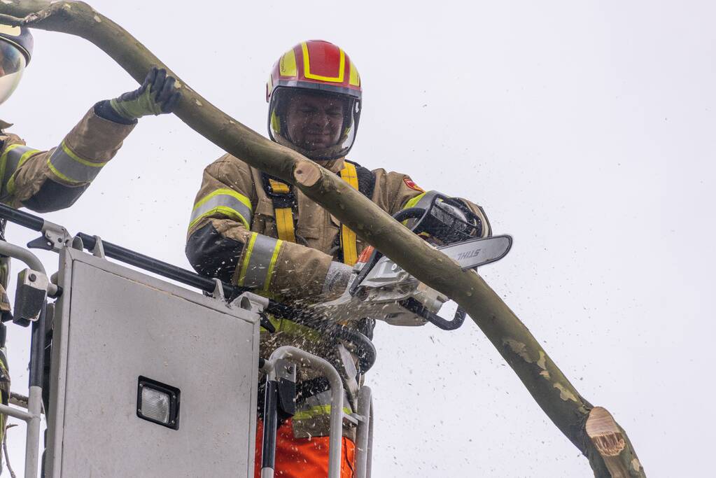
<svg viewBox="0 0 716 478">
<path fill-rule="evenodd" d="M 319 250 L 251 231 L 251 170 L 229 155 L 209 165 L 192 210 L 186 255 L 202 275 L 284 298 L 340 293 L 351 268 Z"/>
</svg>

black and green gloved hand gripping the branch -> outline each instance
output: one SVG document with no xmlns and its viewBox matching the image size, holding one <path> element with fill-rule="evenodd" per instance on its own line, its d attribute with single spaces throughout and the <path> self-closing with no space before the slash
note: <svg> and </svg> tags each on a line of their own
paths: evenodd
<svg viewBox="0 0 716 478">
<path fill-rule="evenodd" d="M 110 100 L 112 109 L 120 117 L 133 121 L 149 114 L 173 112 L 181 97 L 175 87 L 176 79 L 167 70 L 153 67 L 142 86 Z"/>
</svg>

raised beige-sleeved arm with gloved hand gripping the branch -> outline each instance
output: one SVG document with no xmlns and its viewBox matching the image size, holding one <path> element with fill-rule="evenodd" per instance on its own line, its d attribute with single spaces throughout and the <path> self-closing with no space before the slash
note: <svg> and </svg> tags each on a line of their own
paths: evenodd
<svg viewBox="0 0 716 478">
<path fill-rule="evenodd" d="M 49 151 L 6 135 L 0 150 L 0 197 L 15 208 L 39 213 L 68 208 L 87 190 L 145 114 L 171 112 L 175 80 L 153 69 L 144 84 L 119 98 L 95 104 L 64 140 Z"/>
</svg>

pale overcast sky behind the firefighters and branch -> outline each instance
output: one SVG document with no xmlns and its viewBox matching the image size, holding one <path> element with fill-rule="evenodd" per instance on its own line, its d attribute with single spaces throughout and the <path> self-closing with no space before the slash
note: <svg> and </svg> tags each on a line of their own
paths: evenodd
<svg viewBox="0 0 716 478">
<path fill-rule="evenodd" d="M 350 158 L 483 205 L 515 245 L 481 273 L 614 414 L 649 476 L 712 467 L 713 2 L 91 3 L 264 135 L 271 65 L 305 39 L 339 44 L 364 87 Z M 0 117 L 47 149 L 135 87 L 92 44 L 38 31 Z M 47 218 L 188 267 L 201 171 L 221 153 L 176 117 L 141 119 L 77 204 Z M 11 326 L 8 343 L 26 393 L 29 333 Z M 374 476 L 590 476 L 471 321 L 382 324 L 375 343 Z M 24 427 L 9 434 L 21 471 Z"/>
</svg>

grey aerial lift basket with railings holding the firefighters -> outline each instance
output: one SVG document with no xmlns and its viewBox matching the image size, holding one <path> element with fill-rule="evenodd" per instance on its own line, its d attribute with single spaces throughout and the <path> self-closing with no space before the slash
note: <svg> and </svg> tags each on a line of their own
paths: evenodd
<svg viewBox="0 0 716 478">
<path fill-rule="evenodd" d="M 30 250 L 0 240 L 0 255 L 27 265 L 18 275 L 13 321 L 32 326 L 29 398 L 21 404 L 26 411 L 0 404 L 0 412 L 27 424 L 26 478 L 38 476 L 40 416 L 46 412 L 44 477 L 251 478 L 262 446 L 255 443 L 259 367 L 270 385 L 291 367 L 295 381 L 301 362 L 322 367 L 334 391 L 328 478 L 340 474 L 344 422 L 357 426 L 355 476 L 370 477 L 370 389 L 359 390 L 358 413 L 348 416 L 331 364 L 292 347 L 259 360 L 259 325 L 272 328 L 263 311 L 282 313 L 280 304 L 97 236 L 73 237 L 5 205 L 0 218 L 42 233 L 29 248 L 59 254 L 59 270 L 50 279 Z M 367 355 L 374 360 L 374 351 Z M 275 402 L 264 412 L 276 416 Z M 262 478 L 274 476 L 273 459 L 266 457 L 274 457 L 276 423 L 269 428 Z"/>
</svg>

